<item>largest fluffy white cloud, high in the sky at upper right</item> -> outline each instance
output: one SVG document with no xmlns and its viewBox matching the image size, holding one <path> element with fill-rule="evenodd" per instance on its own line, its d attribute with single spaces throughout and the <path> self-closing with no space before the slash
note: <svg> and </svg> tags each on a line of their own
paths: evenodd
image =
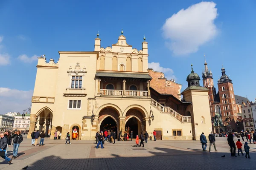
<svg viewBox="0 0 256 170">
<path fill-rule="evenodd" d="M 166 45 L 174 54 L 194 53 L 215 37 L 217 28 L 214 20 L 218 15 L 215 6 L 213 2 L 197 3 L 166 19 L 163 36 L 167 39 Z"/>
</svg>

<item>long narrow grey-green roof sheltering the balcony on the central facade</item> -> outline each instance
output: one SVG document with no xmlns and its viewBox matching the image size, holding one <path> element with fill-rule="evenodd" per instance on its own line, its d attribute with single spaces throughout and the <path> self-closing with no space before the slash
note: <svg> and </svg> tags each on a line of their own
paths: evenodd
<svg viewBox="0 0 256 170">
<path fill-rule="evenodd" d="M 136 73 L 107 73 L 96 72 L 95 76 L 99 77 L 119 77 L 119 78 L 137 78 L 137 79 L 152 79 L 148 74 L 136 74 Z"/>
</svg>

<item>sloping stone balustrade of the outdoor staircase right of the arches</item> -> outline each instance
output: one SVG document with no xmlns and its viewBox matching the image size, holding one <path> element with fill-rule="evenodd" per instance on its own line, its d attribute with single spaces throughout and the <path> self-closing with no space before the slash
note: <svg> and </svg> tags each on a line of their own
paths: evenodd
<svg viewBox="0 0 256 170">
<path fill-rule="evenodd" d="M 151 98 L 151 103 L 150 104 L 152 106 L 154 106 L 154 108 L 157 108 L 157 110 L 160 111 L 161 113 L 168 113 L 169 115 L 171 115 L 172 117 L 174 117 L 175 119 L 177 119 L 180 122 L 189 122 L 189 123 L 191 123 L 191 116 L 183 116 L 180 113 L 173 110 L 172 108 L 170 108 L 168 106 L 161 105 L 160 103 L 158 103 L 157 101 L 155 101 L 152 98 Z"/>
</svg>

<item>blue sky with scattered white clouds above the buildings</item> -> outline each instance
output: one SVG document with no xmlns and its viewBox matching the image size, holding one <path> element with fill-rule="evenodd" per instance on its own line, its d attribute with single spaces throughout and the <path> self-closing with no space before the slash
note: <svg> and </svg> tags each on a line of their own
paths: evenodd
<svg viewBox="0 0 256 170">
<path fill-rule="evenodd" d="M 187 87 L 191 64 L 202 79 L 204 55 L 217 87 L 222 65 L 236 95 L 256 97 L 255 0 L 0 1 L 0 114 L 31 105 L 37 57 L 58 61 L 58 51 L 93 51 L 117 42 L 121 29 L 141 49 L 148 67 Z M 201 85 L 203 85 L 201 81 Z"/>
</svg>

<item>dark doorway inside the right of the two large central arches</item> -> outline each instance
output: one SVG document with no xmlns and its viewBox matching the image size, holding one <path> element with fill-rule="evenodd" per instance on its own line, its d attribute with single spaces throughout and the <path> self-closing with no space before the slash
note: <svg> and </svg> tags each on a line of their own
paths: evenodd
<svg viewBox="0 0 256 170">
<path fill-rule="evenodd" d="M 128 133 L 130 135 L 131 135 L 131 131 L 133 131 L 133 138 L 136 138 L 136 135 L 139 135 L 140 132 L 141 132 L 141 123 L 140 123 L 140 121 L 135 117 L 131 117 L 125 123 L 125 131 L 128 131 Z M 130 138 L 130 136 L 129 136 L 129 138 Z"/>
</svg>

